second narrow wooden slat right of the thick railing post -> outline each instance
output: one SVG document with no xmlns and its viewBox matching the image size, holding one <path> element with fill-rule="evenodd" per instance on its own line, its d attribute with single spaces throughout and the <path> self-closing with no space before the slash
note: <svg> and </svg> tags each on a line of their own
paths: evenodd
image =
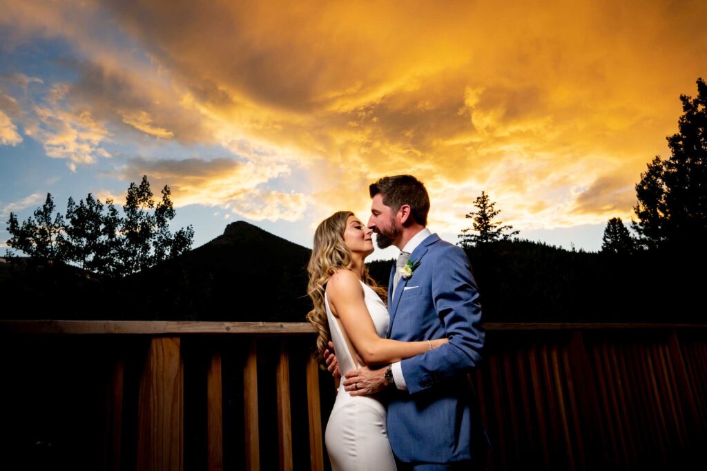
<svg viewBox="0 0 707 471">
<path fill-rule="evenodd" d="M 250 339 L 243 367 L 243 398 L 245 407 L 245 469 L 260 469 L 260 446 L 258 435 L 258 358 L 255 339 Z"/>
</svg>

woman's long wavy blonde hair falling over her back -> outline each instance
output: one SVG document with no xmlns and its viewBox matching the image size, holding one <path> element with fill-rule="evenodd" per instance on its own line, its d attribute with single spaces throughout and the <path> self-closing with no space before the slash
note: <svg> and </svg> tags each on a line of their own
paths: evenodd
<svg viewBox="0 0 707 471">
<path fill-rule="evenodd" d="M 314 309 L 307 314 L 307 320 L 317 330 L 317 352 L 320 359 L 324 355 L 324 350 L 328 348 L 327 342 L 331 338 L 325 308 L 325 287 L 334 273 L 354 265 L 351 251 L 344 244 L 346 220 L 353 215 L 351 211 L 338 211 L 320 222 L 314 233 L 314 248 L 307 266 L 310 276 L 307 294 L 312 298 Z M 363 266 L 363 282 L 373 288 L 384 303 L 387 301 L 387 290 L 378 286 L 378 283 L 370 278 L 366 266 Z"/>
</svg>

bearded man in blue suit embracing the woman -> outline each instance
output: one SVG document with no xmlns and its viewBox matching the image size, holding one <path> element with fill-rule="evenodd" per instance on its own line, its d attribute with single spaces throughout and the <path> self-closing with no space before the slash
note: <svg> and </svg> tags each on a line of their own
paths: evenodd
<svg viewBox="0 0 707 471">
<path fill-rule="evenodd" d="M 351 395 L 396 390 L 387 431 L 398 469 L 484 469 L 489 441 L 468 376 L 482 359 L 484 326 L 469 260 L 427 229 L 430 200 L 415 177 L 383 177 L 370 197 L 378 246 L 401 250 L 388 285 L 387 337 L 449 342 L 385 368 L 344 371 L 344 386 Z"/>
</svg>

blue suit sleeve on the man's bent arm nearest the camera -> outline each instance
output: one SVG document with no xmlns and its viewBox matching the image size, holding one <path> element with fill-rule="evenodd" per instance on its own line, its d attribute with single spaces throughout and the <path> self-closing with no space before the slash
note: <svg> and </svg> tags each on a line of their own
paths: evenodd
<svg viewBox="0 0 707 471">
<path fill-rule="evenodd" d="M 479 291 L 464 251 L 445 246 L 435 259 L 432 299 L 449 342 L 401 362 L 409 393 L 419 393 L 450 376 L 465 374 L 481 362 L 484 324 Z"/>
</svg>

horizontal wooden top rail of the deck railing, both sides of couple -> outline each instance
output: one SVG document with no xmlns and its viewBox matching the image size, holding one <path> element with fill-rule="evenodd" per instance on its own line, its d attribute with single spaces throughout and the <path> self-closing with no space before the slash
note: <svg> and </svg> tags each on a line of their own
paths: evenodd
<svg viewBox="0 0 707 471">
<path fill-rule="evenodd" d="M 707 329 L 707 323 L 486 323 L 487 331 L 520 330 L 672 330 Z M 0 321 L 0 335 L 143 334 L 143 335 L 313 335 L 308 322 L 211 321 Z"/>
</svg>

